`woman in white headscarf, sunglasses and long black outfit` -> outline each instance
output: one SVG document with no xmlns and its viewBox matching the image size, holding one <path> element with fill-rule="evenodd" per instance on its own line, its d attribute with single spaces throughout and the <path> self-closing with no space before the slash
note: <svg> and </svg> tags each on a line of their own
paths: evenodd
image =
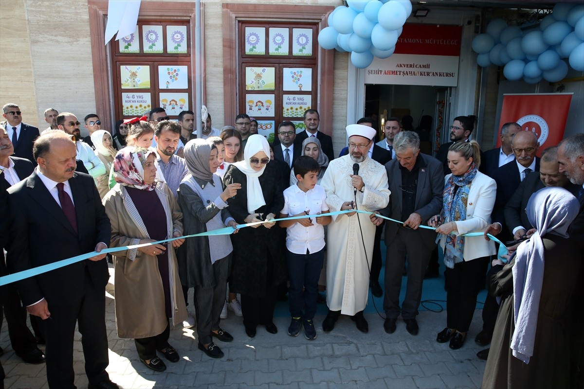
<svg viewBox="0 0 584 389">
<path fill-rule="evenodd" d="M 241 184 L 241 190 L 228 201 L 231 216 L 238 224 L 271 220 L 284 207 L 280 171 L 270 161 L 270 146 L 262 135 L 251 135 L 244 160 L 232 164 L 223 184 Z M 276 223 L 241 229 L 232 236 L 234 257 L 231 289 L 241 293 L 245 332 L 255 337 L 258 324 L 272 334 L 276 287 L 286 279 L 286 261 L 281 251 Z"/>
</svg>

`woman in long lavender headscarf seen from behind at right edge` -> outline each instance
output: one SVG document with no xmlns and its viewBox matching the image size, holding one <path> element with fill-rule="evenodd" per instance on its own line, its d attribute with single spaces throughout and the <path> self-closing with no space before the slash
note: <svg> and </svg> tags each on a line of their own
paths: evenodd
<svg viewBox="0 0 584 389">
<path fill-rule="evenodd" d="M 582 254 L 568 227 L 579 207 L 564 188 L 537 191 L 526 208 L 537 231 L 508 264 L 492 262 L 489 293 L 502 300 L 482 388 L 570 387 L 566 311 Z"/>
</svg>

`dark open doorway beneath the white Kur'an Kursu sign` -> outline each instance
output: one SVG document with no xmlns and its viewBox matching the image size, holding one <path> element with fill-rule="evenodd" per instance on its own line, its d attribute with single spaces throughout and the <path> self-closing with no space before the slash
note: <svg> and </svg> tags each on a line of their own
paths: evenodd
<svg viewBox="0 0 584 389">
<path fill-rule="evenodd" d="M 445 86 L 366 84 L 365 115 L 374 119 L 377 115 L 378 139 L 384 138 L 385 118 L 397 117 L 404 129 L 418 132 L 420 150 L 435 155 L 448 139 L 444 118 L 449 117 L 450 96 L 451 88 Z"/>
</svg>

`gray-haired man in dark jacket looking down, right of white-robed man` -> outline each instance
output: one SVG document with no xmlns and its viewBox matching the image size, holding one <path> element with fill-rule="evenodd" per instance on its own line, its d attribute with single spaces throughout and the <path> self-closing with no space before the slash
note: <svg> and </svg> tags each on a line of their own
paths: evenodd
<svg viewBox="0 0 584 389">
<path fill-rule="evenodd" d="M 406 330 L 418 334 L 418 307 L 422 297 L 424 273 L 430 254 L 436 247 L 436 233 L 419 229 L 442 209 L 444 170 L 439 160 L 420 153 L 420 138 L 413 131 L 395 135 L 395 159 L 385 164 L 390 202 L 380 213 L 392 219 L 405 220 L 403 225 L 388 223 L 385 226 L 385 297 L 383 309 L 386 319 L 385 332 L 393 334 L 397 318 L 401 314 Z M 371 215 L 378 225 L 380 218 Z M 399 290 L 406 257 L 408 258 L 408 286 L 402 306 L 399 306 Z"/>
</svg>

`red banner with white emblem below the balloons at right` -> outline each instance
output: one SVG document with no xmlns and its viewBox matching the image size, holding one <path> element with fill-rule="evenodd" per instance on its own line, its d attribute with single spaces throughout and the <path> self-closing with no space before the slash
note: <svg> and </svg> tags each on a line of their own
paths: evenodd
<svg viewBox="0 0 584 389">
<path fill-rule="evenodd" d="M 537 134 L 541 152 L 564 138 L 573 93 L 504 94 L 499 129 L 516 122 Z M 501 145 L 500 138 L 497 147 Z"/>
</svg>

